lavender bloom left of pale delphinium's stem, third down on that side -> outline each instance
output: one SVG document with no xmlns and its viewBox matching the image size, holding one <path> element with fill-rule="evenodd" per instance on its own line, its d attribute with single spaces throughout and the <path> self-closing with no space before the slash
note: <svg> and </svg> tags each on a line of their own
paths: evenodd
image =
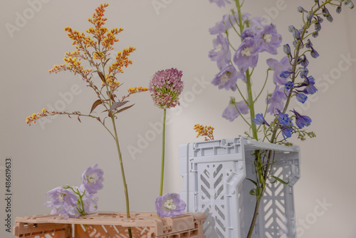
<svg viewBox="0 0 356 238">
<path fill-rule="evenodd" d="M 237 73 L 234 66 L 229 65 L 223 68 L 211 81 L 214 86 L 219 89 L 225 88 L 226 90 L 236 90 L 237 78 L 245 78 L 244 73 Z"/>
</svg>

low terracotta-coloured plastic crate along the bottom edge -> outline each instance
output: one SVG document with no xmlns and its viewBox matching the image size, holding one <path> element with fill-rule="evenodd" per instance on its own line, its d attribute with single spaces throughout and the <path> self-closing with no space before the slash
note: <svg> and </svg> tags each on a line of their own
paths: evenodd
<svg viewBox="0 0 356 238">
<path fill-rule="evenodd" d="M 157 214 L 97 212 L 85 217 L 63 219 L 43 214 L 16 217 L 14 236 L 26 238 L 125 238 L 127 227 L 132 237 L 142 238 L 205 238 L 203 212 L 184 213 L 177 217 L 157 217 Z"/>
</svg>

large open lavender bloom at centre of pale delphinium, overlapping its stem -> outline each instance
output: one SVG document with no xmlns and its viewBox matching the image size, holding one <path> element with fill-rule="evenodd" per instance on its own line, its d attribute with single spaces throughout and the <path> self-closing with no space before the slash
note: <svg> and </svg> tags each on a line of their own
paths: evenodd
<svg viewBox="0 0 356 238">
<path fill-rule="evenodd" d="M 239 71 L 245 73 L 248 67 L 255 68 L 258 61 L 258 52 L 261 49 L 261 38 L 255 39 L 248 37 L 242 41 L 234 54 L 234 63 Z"/>
</svg>

